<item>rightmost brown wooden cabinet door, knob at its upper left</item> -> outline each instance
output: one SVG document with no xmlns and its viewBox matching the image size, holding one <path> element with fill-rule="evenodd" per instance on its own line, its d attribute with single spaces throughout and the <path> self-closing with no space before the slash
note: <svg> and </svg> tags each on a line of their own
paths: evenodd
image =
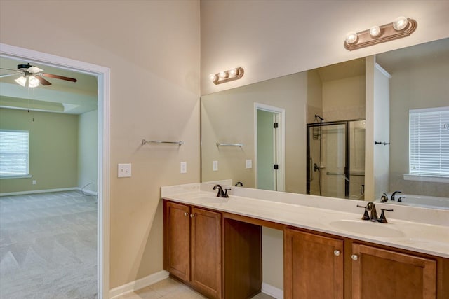
<svg viewBox="0 0 449 299">
<path fill-rule="evenodd" d="M 436 298 L 436 261 L 352 244 L 352 298 Z"/>
</svg>

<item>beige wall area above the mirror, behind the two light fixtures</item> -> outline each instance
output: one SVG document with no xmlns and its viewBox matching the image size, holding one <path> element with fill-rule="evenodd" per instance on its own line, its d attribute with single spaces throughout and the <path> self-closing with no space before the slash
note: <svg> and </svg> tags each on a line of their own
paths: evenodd
<svg viewBox="0 0 449 299">
<path fill-rule="evenodd" d="M 231 3 L 231 4 L 230 4 Z M 201 94 L 366 57 L 449 36 L 449 1 L 201 1 Z M 404 39 L 354 51 L 347 32 L 417 20 Z M 214 85 L 208 74 L 243 67 L 243 78 Z"/>
</svg>

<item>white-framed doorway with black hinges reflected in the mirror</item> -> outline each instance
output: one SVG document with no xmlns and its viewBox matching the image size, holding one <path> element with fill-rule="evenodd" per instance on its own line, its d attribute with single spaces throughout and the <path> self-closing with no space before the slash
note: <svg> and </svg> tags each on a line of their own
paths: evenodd
<svg viewBox="0 0 449 299">
<path fill-rule="evenodd" d="M 285 110 L 255 103 L 255 188 L 285 190 Z"/>
</svg>

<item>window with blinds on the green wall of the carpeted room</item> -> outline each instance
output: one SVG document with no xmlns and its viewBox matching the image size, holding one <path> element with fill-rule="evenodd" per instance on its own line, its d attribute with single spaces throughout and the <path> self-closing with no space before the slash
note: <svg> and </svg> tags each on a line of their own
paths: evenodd
<svg viewBox="0 0 449 299">
<path fill-rule="evenodd" d="M 29 176 L 28 131 L 0 130 L 0 177 Z"/>
</svg>

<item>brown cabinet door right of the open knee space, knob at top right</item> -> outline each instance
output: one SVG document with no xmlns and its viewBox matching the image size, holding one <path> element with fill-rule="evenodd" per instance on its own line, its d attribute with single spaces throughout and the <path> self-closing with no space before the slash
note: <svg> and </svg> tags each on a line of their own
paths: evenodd
<svg viewBox="0 0 449 299">
<path fill-rule="evenodd" d="M 284 231 L 284 298 L 343 298 L 343 241 Z"/>
</svg>

